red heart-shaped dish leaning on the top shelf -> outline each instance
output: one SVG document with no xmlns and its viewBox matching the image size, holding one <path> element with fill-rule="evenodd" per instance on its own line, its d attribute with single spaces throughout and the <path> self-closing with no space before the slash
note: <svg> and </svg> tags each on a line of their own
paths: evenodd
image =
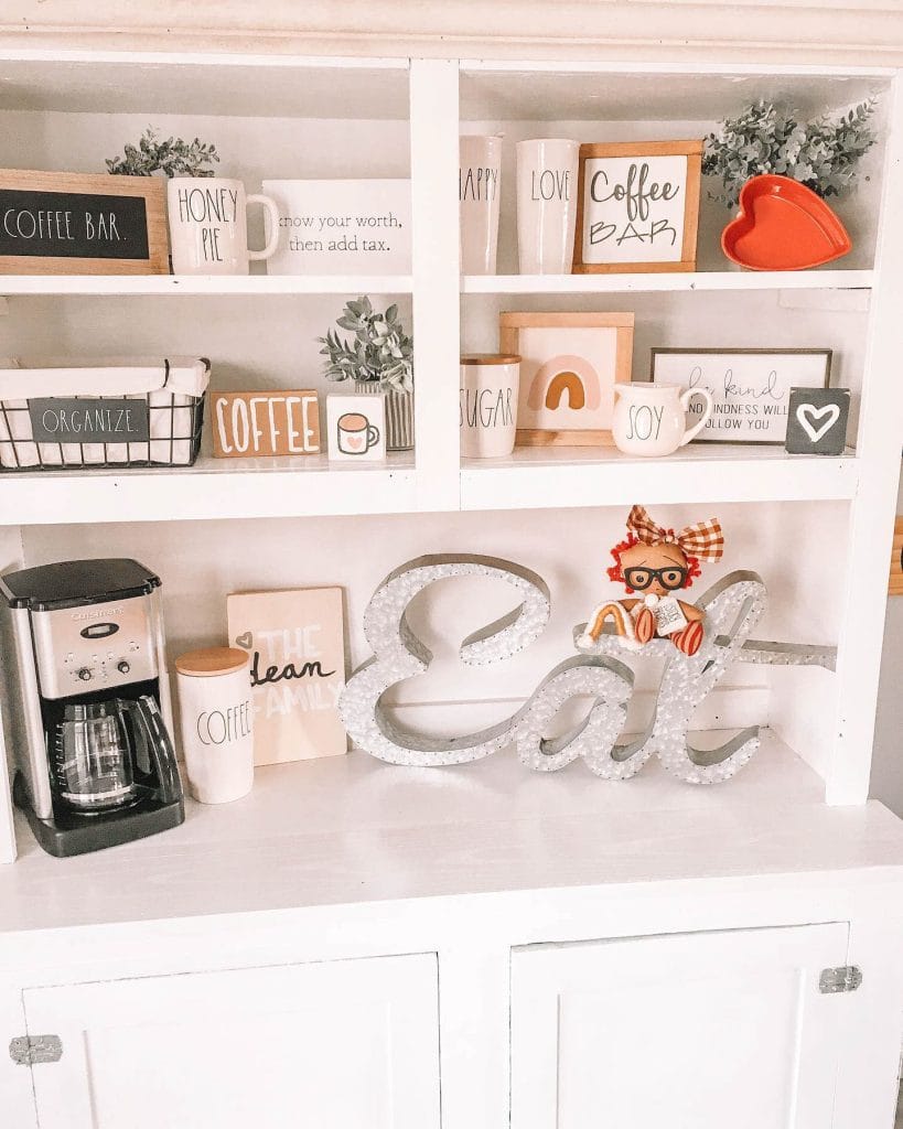
<svg viewBox="0 0 903 1129">
<path fill-rule="evenodd" d="M 843 224 L 816 194 L 789 176 L 754 176 L 740 210 L 721 233 L 728 259 L 753 271 L 805 271 L 852 250 Z"/>
</svg>

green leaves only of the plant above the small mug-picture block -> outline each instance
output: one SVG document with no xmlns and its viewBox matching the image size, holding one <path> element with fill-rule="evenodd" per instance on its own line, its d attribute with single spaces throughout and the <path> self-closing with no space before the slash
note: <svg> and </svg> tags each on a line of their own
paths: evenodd
<svg viewBox="0 0 903 1129">
<path fill-rule="evenodd" d="M 412 392 L 414 342 L 398 321 L 398 307 L 377 313 L 366 296 L 345 303 L 336 325 L 353 336 L 342 340 L 335 330 L 317 338 L 327 357 L 327 380 L 363 380 Z"/>
</svg>

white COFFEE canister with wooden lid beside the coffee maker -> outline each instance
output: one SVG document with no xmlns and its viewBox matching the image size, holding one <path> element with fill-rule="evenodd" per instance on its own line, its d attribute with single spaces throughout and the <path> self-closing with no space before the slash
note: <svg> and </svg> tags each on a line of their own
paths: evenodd
<svg viewBox="0 0 903 1129">
<path fill-rule="evenodd" d="M 190 650 L 176 659 L 182 749 L 192 796 L 228 804 L 254 784 L 254 704 L 248 654 Z"/>
</svg>

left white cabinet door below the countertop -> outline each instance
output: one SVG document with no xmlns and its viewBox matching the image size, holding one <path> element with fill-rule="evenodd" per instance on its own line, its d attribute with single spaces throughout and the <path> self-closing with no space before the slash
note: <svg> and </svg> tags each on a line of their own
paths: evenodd
<svg viewBox="0 0 903 1129">
<path fill-rule="evenodd" d="M 435 955 L 24 994 L 41 1129 L 438 1129 Z"/>
</svg>

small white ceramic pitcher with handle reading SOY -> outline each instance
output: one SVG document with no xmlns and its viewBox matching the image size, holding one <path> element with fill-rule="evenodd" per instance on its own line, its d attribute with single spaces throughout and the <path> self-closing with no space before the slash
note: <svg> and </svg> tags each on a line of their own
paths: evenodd
<svg viewBox="0 0 903 1129">
<path fill-rule="evenodd" d="M 707 388 L 681 391 L 677 384 L 615 384 L 612 437 L 625 455 L 670 455 L 699 435 L 712 413 Z M 686 426 L 693 396 L 702 396 L 702 419 Z"/>
</svg>

